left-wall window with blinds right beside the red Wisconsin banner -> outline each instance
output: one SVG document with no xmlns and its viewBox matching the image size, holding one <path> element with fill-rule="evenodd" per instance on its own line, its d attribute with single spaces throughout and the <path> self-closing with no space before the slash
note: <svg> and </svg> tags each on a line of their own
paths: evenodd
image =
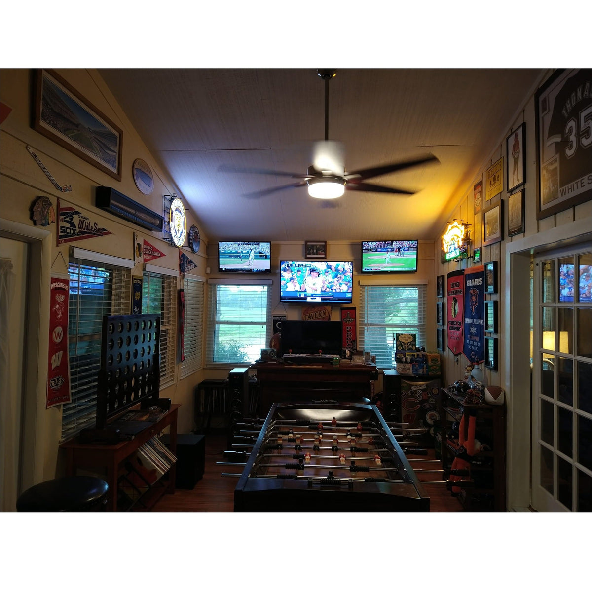
<svg viewBox="0 0 592 592">
<path fill-rule="evenodd" d="M 130 270 L 72 259 L 70 276 L 68 355 L 72 402 L 62 410 L 62 439 L 93 427 L 96 417 L 96 376 L 101 355 L 102 316 L 130 311 Z"/>
</svg>

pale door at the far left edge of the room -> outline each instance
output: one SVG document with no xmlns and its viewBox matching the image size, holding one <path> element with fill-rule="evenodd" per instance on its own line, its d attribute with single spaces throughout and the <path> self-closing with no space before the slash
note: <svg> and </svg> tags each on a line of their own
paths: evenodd
<svg viewBox="0 0 592 592">
<path fill-rule="evenodd" d="M 28 244 L 0 237 L 0 509 L 15 511 L 21 493 L 21 441 Z"/>
</svg>

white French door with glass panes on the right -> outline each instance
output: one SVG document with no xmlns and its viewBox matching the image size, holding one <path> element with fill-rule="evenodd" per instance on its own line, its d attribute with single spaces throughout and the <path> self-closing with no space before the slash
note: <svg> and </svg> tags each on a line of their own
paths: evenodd
<svg viewBox="0 0 592 592">
<path fill-rule="evenodd" d="M 532 506 L 592 511 L 592 245 L 535 258 Z"/>
</svg>

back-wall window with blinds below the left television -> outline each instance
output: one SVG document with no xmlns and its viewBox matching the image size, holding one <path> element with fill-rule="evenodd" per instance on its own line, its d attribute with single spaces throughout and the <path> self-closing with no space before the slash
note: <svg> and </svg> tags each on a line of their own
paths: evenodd
<svg viewBox="0 0 592 592">
<path fill-rule="evenodd" d="M 271 285 L 212 283 L 208 295 L 207 362 L 254 362 L 271 339 Z"/>
</svg>

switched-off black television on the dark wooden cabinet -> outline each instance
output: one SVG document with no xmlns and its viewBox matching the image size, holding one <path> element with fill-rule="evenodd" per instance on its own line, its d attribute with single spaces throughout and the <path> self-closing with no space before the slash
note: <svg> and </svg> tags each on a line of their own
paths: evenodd
<svg viewBox="0 0 592 592">
<path fill-rule="evenodd" d="M 341 355 L 342 321 L 282 321 L 281 353 Z"/>
</svg>

